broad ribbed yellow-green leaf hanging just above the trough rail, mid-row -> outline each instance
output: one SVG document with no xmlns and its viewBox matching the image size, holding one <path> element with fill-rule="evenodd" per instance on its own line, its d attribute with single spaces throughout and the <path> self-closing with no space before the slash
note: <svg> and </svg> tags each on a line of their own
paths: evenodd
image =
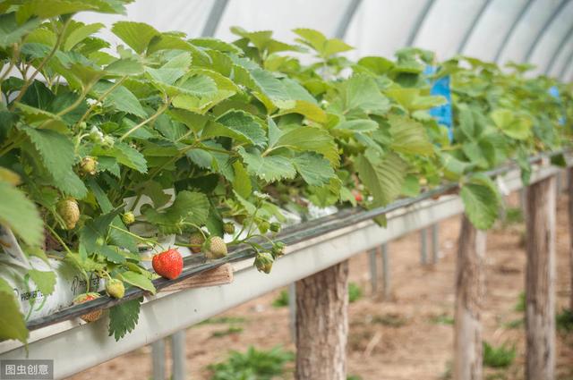
<svg viewBox="0 0 573 380">
<path fill-rule="evenodd" d="M 382 159 L 367 151 L 357 157 L 355 167 L 360 181 L 374 197 L 375 206 L 388 205 L 400 194 L 407 164 L 399 156 L 390 153 Z"/>
</svg>

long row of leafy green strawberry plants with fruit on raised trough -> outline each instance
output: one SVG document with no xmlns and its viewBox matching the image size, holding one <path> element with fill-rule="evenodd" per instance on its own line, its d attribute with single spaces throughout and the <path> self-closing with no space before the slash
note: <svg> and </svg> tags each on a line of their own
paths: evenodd
<svg viewBox="0 0 573 380">
<path fill-rule="evenodd" d="M 227 43 L 132 21 L 111 27 L 114 51 L 102 24 L 73 20 L 127 3 L 0 4 L 0 224 L 18 242 L 0 254 L 0 339 L 28 336 L 14 283 L 36 290 L 33 304 L 60 266 L 81 274 L 82 302 L 99 279 L 111 297 L 154 293 L 157 274 L 181 274 L 177 249 L 220 259 L 246 244 L 269 273 L 285 210 L 381 207 L 457 182 L 469 219 L 490 228 L 500 192 L 487 172 L 515 160 L 528 182 L 529 156 L 570 144 L 570 85 L 523 65 L 437 63 L 415 48 L 352 62 L 351 46 L 316 30 L 290 44 L 234 28 Z M 451 139 L 430 114 L 445 76 Z M 133 329 L 140 304 L 110 310 L 110 335 Z"/>
</svg>

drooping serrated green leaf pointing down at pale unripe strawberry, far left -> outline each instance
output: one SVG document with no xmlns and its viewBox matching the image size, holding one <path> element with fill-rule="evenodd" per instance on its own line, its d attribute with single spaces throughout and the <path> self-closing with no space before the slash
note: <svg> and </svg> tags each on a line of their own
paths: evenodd
<svg viewBox="0 0 573 380">
<path fill-rule="evenodd" d="M 42 157 L 41 165 L 54 179 L 54 186 L 74 198 L 83 198 L 88 190 L 73 172 L 74 148 L 70 139 L 51 130 L 22 127 Z"/>
</svg>

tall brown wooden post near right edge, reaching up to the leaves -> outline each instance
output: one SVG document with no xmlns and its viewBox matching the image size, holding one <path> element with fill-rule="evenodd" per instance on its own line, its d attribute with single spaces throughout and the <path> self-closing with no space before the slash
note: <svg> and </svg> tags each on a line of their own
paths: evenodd
<svg viewBox="0 0 573 380">
<path fill-rule="evenodd" d="M 555 378 L 555 177 L 527 189 L 526 379 Z"/>
</svg>

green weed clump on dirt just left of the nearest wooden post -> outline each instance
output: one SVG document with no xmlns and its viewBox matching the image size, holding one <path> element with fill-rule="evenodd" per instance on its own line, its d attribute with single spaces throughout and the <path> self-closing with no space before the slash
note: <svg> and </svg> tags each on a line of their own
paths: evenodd
<svg viewBox="0 0 573 380">
<path fill-rule="evenodd" d="M 290 351 L 275 347 L 271 350 L 256 350 L 249 347 L 246 352 L 230 351 L 227 360 L 211 364 L 211 380 L 257 379 L 270 380 L 286 373 L 286 364 L 295 359 Z"/>
</svg>

